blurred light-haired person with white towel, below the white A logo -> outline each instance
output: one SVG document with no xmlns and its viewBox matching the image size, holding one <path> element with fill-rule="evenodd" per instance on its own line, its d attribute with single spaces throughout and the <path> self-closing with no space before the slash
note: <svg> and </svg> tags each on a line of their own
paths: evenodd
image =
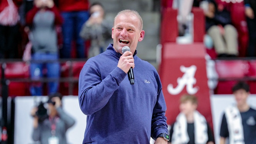
<svg viewBox="0 0 256 144">
<path fill-rule="evenodd" d="M 197 97 L 183 95 L 176 122 L 172 124 L 170 141 L 172 144 L 214 144 L 212 130 L 205 117 L 197 111 Z"/>
</svg>

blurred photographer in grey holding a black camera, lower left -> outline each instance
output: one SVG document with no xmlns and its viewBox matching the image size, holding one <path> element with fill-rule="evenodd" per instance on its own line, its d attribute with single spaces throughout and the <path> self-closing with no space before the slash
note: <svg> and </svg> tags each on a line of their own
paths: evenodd
<svg viewBox="0 0 256 144">
<path fill-rule="evenodd" d="M 66 131 L 74 125 L 75 120 L 62 110 L 60 93 L 48 97 L 47 109 L 41 103 L 31 111 L 34 118 L 32 138 L 41 144 L 67 144 Z"/>
</svg>

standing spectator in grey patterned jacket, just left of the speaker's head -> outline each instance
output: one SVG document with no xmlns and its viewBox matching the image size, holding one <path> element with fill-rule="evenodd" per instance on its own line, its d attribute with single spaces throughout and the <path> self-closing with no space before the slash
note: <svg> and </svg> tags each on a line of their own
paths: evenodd
<svg viewBox="0 0 256 144">
<path fill-rule="evenodd" d="M 104 47 L 112 40 L 113 23 L 107 21 L 101 3 L 95 2 L 90 6 L 90 18 L 83 25 L 80 36 L 90 40 L 89 58 L 105 51 Z"/>
</svg>

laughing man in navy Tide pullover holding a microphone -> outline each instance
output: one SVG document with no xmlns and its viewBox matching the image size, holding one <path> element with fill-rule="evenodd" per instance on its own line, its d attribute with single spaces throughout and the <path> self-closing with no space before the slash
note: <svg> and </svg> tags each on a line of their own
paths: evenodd
<svg viewBox="0 0 256 144">
<path fill-rule="evenodd" d="M 83 144 L 149 144 L 150 137 L 155 144 L 167 144 L 166 103 L 158 72 L 136 56 L 142 29 L 138 12 L 120 11 L 112 28 L 113 44 L 81 70 L 79 105 L 87 115 Z M 130 51 L 123 53 L 125 46 Z M 127 76 L 131 67 L 133 85 Z"/>
</svg>

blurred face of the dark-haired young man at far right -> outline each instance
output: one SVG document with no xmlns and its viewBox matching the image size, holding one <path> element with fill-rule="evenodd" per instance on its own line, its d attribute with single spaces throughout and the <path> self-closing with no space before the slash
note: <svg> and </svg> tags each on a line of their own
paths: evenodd
<svg viewBox="0 0 256 144">
<path fill-rule="evenodd" d="M 233 94 L 235 95 L 236 103 L 238 106 L 242 106 L 247 103 L 249 92 L 246 92 L 246 90 L 244 89 L 236 90 Z"/>
</svg>

